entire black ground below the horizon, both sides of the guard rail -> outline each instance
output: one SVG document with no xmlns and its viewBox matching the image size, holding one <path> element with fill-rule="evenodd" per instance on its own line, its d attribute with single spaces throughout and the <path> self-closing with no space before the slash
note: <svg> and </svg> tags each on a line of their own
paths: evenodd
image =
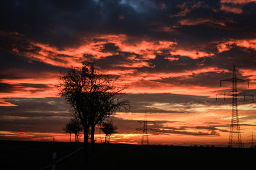
<svg viewBox="0 0 256 170">
<path fill-rule="evenodd" d="M 0 145 L 5 166 L 1 169 L 40 169 L 51 164 L 53 150 L 58 160 L 83 143 L 0 141 Z M 83 161 L 81 150 L 58 162 L 56 169 L 256 169 L 255 158 L 256 150 L 250 148 L 97 143 L 90 163 Z"/>
</svg>

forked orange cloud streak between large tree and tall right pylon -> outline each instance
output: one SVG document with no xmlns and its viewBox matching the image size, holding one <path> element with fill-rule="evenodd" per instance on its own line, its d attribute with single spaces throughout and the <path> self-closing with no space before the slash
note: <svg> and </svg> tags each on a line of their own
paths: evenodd
<svg viewBox="0 0 256 170">
<path fill-rule="evenodd" d="M 120 76 L 118 84 L 125 85 L 127 93 L 173 93 L 173 94 L 189 94 L 195 96 L 211 96 L 215 97 L 216 91 L 209 87 L 201 87 L 197 85 L 172 85 L 172 83 L 161 83 L 155 80 L 162 80 L 163 78 L 183 77 L 186 78 L 191 75 L 208 73 L 208 72 L 228 72 L 225 69 L 218 69 L 217 67 L 208 67 L 203 69 L 195 69 L 182 71 L 179 73 L 135 73 L 124 74 Z M 174 83 L 174 82 L 173 82 Z"/>
</svg>

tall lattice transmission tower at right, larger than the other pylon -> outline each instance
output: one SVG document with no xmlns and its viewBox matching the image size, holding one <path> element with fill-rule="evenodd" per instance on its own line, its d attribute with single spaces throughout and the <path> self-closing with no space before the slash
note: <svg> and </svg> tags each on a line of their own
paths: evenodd
<svg viewBox="0 0 256 170">
<path fill-rule="evenodd" d="M 232 91 L 231 92 L 225 92 L 224 95 L 224 101 L 225 96 L 232 96 L 232 117 L 231 117 L 231 124 L 230 124 L 230 134 L 229 134 L 229 140 L 228 140 L 228 146 L 230 147 L 237 147 L 242 148 L 242 138 L 241 138 L 241 131 L 240 131 L 240 124 L 239 124 L 239 117 L 238 117 L 238 110 L 237 110 L 237 96 L 252 96 L 253 101 L 253 95 L 237 92 L 237 81 L 247 81 L 248 82 L 248 88 L 249 88 L 249 80 L 243 80 L 236 78 L 236 67 L 233 68 L 233 77 L 228 78 L 225 80 L 220 80 L 220 87 L 222 81 L 232 81 Z M 216 100 L 217 100 L 217 94 L 216 94 Z"/>
</svg>

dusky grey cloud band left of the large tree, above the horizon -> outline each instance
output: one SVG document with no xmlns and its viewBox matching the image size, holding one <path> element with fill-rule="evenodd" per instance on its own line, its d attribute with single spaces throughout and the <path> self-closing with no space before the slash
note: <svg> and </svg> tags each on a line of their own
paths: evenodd
<svg viewBox="0 0 256 170">
<path fill-rule="evenodd" d="M 70 115 L 61 98 L 6 99 L 17 106 L 0 106 L 1 131 L 63 132 Z"/>
</svg>

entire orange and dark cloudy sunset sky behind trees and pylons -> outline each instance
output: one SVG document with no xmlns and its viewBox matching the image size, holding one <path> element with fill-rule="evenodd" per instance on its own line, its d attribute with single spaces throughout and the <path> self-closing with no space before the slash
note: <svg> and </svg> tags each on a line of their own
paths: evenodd
<svg viewBox="0 0 256 170">
<path fill-rule="evenodd" d="M 93 60 L 118 75 L 131 109 L 116 112 L 112 143 L 228 143 L 233 66 L 238 90 L 256 94 L 256 1 L 1 1 L 0 139 L 68 141 L 60 72 Z M 244 143 L 256 134 L 256 105 L 238 100 Z M 104 139 L 97 129 L 96 141 Z"/>
</svg>

